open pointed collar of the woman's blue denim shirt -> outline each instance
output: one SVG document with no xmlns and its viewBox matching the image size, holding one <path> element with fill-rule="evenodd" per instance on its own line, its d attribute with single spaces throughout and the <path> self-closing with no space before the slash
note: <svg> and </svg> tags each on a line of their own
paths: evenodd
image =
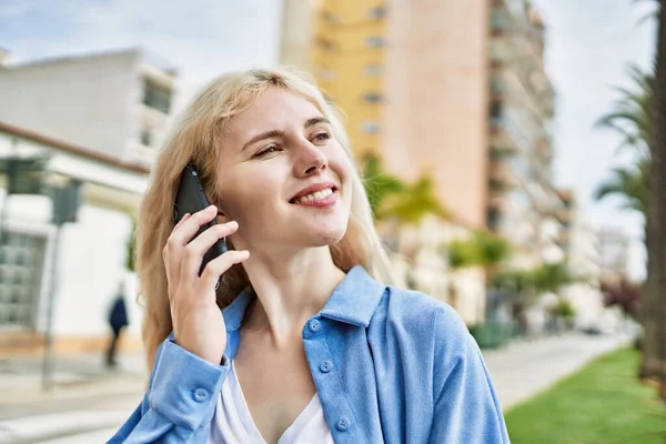
<svg viewBox="0 0 666 444">
<path fill-rule="evenodd" d="M 386 287 L 367 274 L 363 266 L 356 265 L 346 273 L 319 314 L 334 321 L 366 327 L 385 290 Z M 241 327 L 245 310 L 254 297 L 254 292 L 248 287 L 222 310 L 228 332 Z"/>
</svg>

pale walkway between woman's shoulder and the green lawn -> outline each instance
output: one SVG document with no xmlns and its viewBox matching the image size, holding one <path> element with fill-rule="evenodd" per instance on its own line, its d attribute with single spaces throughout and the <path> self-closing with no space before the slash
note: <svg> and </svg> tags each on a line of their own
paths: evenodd
<svg viewBox="0 0 666 444">
<path fill-rule="evenodd" d="M 504 411 L 551 387 L 595 357 L 629 344 L 626 333 L 566 333 L 483 351 Z"/>
</svg>

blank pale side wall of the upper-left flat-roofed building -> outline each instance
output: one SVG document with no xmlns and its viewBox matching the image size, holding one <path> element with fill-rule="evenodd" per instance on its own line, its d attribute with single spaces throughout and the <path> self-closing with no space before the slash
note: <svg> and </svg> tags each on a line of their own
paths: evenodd
<svg viewBox="0 0 666 444">
<path fill-rule="evenodd" d="M 131 137 L 138 52 L 0 68 L 0 121 L 122 155 Z"/>
</svg>

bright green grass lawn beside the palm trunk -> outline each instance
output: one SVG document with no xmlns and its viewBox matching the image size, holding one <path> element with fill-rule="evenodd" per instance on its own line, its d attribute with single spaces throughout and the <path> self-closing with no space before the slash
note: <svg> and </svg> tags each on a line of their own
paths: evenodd
<svg viewBox="0 0 666 444">
<path fill-rule="evenodd" d="M 640 355 L 620 350 L 505 414 L 513 444 L 664 444 L 666 406 L 635 377 Z"/>
</svg>

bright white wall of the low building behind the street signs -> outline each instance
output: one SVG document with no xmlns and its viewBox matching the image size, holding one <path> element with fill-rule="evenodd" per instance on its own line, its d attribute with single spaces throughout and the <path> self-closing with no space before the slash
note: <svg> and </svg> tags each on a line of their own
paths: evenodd
<svg viewBox="0 0 666 444">
<path fill-rule="evenodd" d="M 37 195 L 14 195 L 8 201 L 7 226 L 11 230 L 46 233 L 49 238 L 38 313 L 38 330 L 47 325 L 47 301 L 51 285 L 52 249 L 56 229 L 49 224 L 51 202 Z M 57 260 L 58 291 L 53 310 L 53 333 L 59 337 L 93 337 L 108 334 L 107 313 L 119 282 L 127 283 L 130 330 L 140 334 L 141 310 L 135 303 L 135 278 L 124 269 L 131 222 L 127 214 L 83 205 L 79 222 L 62 228 Z"/>
</svg>

